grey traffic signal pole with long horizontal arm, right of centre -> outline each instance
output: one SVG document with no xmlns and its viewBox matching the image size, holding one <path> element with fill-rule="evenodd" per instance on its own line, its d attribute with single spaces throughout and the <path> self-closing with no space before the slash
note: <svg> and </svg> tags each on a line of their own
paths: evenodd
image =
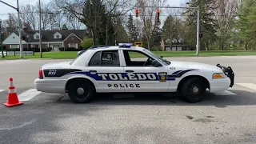
<svg viewBox="0 0 256 144">
<path fill-rule="evenodd" d="M 139 6 L 135 6 L 137 8 L 139 8 Z M 199 54 L 199 50 L 200 50 L 200 38 L 199 38 L 199 34 L 200 34 L 200 8 L 199 6 L 197 7 L 180 7 L 180 6 L 143 6 L 143 7 L 150 7 L 150 8 L 167 8 L 167 9 L 194 9 L 194 10 L 198 10 L 198 18 L 197 18 L 197 50 L 196 50 L 196 55 Z M 136 13 L 138 11 L 136 10 Z"/>
</svg>

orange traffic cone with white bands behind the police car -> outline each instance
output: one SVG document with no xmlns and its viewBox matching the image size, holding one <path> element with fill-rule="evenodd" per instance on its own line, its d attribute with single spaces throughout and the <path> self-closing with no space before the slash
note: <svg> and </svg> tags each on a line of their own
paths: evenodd
<svg viewBox="0 0 256 144">
<path fill-rule="evenodd" d="M 8 101 L 4 103 L 5 106 L 18 106 L 23 104 L 23 102 L 18 101 L 18 95 L 14 87 L 13 78 L 10 78 L 9 83 L 9 92 L 8 92 Z"/>
</svg>

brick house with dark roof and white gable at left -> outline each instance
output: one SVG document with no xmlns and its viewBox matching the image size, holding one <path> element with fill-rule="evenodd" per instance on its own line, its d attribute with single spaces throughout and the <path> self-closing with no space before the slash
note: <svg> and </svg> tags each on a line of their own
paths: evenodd
<svg viewBox="0 0 256 144">
<path fill-rule="evenodd" d="M 81 46 L 81 42 L 86 34 L 86 30 L 41 30 L 42 48 L 51 47 L 53 51 L 58 51 L 59 47 Z M 18 31 L 9 35 L 3 42 L 6 49 L 19 48 Z M 23 49 L 39 47 L 39 31 L 22 30 Z"/>
</svg>

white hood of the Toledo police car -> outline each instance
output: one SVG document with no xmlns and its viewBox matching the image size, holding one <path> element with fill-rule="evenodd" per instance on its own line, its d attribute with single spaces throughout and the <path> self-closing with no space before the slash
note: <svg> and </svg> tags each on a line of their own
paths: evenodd
<svg viewBox="0 0 256 144">
<path fill-rule="evenodd" d="M 209 65 L 201 62 L 179 62 L 179 61 L 171 61 L 170 67 L 175 67 L 176 70 L 188 70 L 188 69 L 196 69 L 196 70 L 206 70 L 206 71 L 214 71 L 214 72 L 222 72 L 222 69 L 218 66 Z"/>
</svg>

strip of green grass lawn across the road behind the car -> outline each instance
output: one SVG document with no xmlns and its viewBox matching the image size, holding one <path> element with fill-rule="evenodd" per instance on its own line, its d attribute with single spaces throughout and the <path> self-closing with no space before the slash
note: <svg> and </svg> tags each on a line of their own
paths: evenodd
<svg viewBox="0 0 256 144">
<path fill-rule="evenodd" d="M 153 51 L 154 54 L 162 55 L 163 57 L 189 57 L 196 56 L 195 51 Z M 42 58 L 76 58 L 78 52 L 77 51 L 60 51 L 60 52 L 43 52 Z M 256 51 L 201 51 L 199 52 L 199 56 L 234 56 L 234 55 L 256 55 Z M 24 58 L 40 58 L 40 53 L 35 53 L 32 55 L 23 55 Z M 141 55 L 133 54 L 133 58 L 139 58 Z M 19 55 L 10 55 L 4 59 L 18 59 Z"/>
</svg>

